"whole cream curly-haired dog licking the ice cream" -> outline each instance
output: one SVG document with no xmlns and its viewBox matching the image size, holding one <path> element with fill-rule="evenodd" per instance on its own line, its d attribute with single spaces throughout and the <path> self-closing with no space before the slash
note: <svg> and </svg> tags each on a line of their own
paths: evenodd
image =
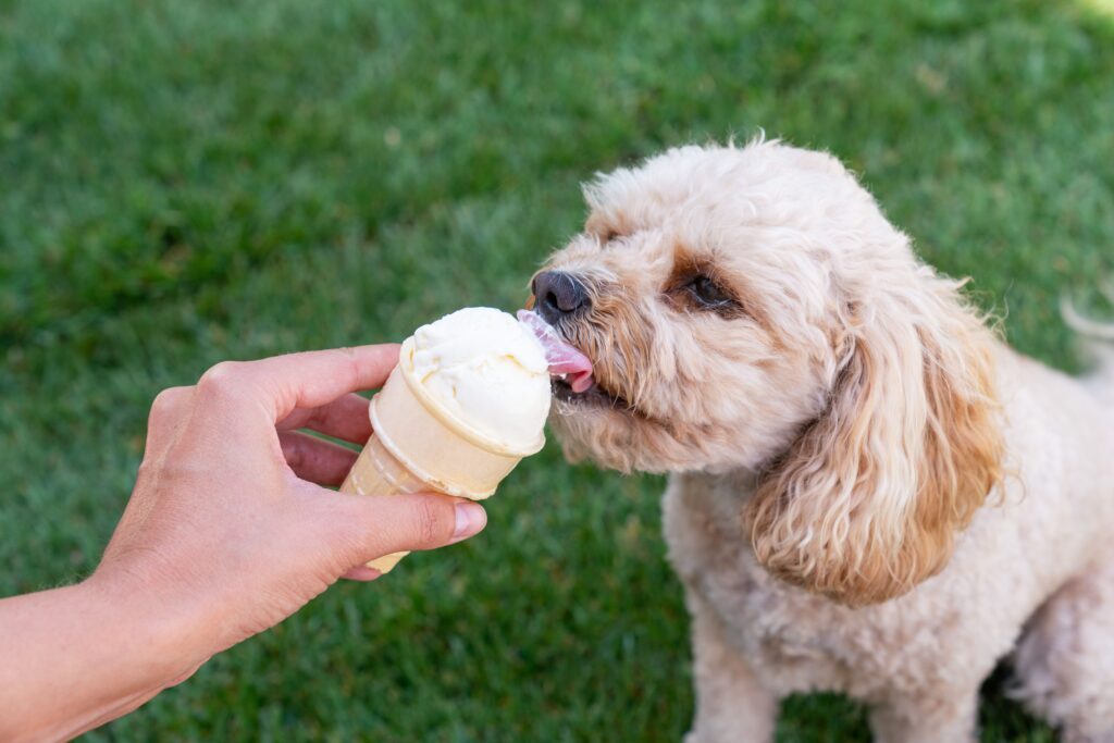
<svg viewBox="0 0 1114 743">
<path fill-rule="evenodd" d="M 975 740 L 1009 655 L 1065 741 L 1114 741 L 1114 355 L 1010 350 L 824 153 L 685 146 L 585 196 L 531 284 L 593 365 L 550 422 L 570 460 L 670 475 L 687 743 L 770 741 L 813 691 L 878 741 Z"/>
</svg>

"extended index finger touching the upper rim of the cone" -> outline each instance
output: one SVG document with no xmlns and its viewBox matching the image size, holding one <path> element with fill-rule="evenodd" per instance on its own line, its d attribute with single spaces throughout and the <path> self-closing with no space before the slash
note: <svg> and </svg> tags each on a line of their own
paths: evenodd
<svg viewBox="0 0 1114 743">
<path fill-rule="evenodd" d="M 296 408 L 319 408 L 382 385 L 398 360 L 399 346 L 384 344 L 225 361 L 202 375 L 197 394 L 218 407 L 262 405 L 276 423 Z"/>
</svg>

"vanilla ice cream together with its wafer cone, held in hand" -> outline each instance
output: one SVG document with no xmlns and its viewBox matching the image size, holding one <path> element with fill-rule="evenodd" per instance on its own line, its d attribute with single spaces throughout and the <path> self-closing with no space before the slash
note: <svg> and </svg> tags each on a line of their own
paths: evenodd
<svg viewBox="0 0 1114 743">
<path fill-rule="evenodd" d="M 422 325 L 368 405 L 373 432 L 341 490 L 490 497 L 545 446 L 550 371 L 535 332 L 505 312 L 466 307 Z M 368 567 L 389 573 L 405 555 Z"/>
</svg>

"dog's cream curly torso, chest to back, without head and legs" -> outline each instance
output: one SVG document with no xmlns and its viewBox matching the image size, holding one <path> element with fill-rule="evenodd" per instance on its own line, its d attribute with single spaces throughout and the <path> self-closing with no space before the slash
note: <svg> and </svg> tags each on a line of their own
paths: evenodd
<svg viewBox="0 0 1114 743">
<path fill-rule="evenodd" d="M 690 612 L 717 623 L 762 684 L 779 695 L 837 691 L 868 701 L 977 687 L 1037 606 L 1108 549 L 1108 412 L 1062 374 L 1008 352 L 999 365 L 1005 492 L 959 536 L 947 567 L 899 598 L 852 609 L 773 578 L 743 530 L 752 476 L 671 478 L 665 538 Z"/>
</svg>

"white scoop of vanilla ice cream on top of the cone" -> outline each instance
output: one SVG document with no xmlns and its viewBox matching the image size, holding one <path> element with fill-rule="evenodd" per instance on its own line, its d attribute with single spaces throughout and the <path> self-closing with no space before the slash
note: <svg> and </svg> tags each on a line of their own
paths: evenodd
<svg viewBox="0 0 1114 743">
<path fill-rule="evenodd" d="M 546 354 L 506 312 L 465 307 L 413 334 L 414 379 L 461 422 L 496 441 L 538 440 L 549 414 Z"/>
</svg>

